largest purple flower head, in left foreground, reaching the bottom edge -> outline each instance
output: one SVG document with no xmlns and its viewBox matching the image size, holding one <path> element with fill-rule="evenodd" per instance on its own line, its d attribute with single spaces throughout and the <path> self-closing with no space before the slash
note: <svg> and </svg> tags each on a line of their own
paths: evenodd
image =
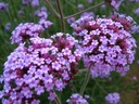
<svg viewBox="0 0 139 104">
<path fill-rule="evenodd" d="M 2 104 L 39 104 L 37 96 L 45 92 L 54 100 L 54 90 L 63 91 L 77 73 L 75 66 L 83 53 L 73 50 L 78 41 L 71 35 L 59 32 L 51 39 L 29 40 L 28 48 L 20 43 L 4 63 Z"/>
</svg>

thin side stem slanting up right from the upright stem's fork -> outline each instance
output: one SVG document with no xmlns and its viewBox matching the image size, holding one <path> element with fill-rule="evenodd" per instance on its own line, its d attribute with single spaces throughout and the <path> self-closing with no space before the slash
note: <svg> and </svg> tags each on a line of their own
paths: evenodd
<svg viewBox="0 0 139 104">
<path fill-rule="evenodd" d="M 72 15 L 70 15 L 70 16 L 64 17 L 64 20 L 67 20 L 67 18 L 70 18 L 70 17 L 73 17 L 73 16 L 76 16 L 76 15 L 79 15 L 79 14 L 86 12 L 86 11 L 92 10 L 92 9 L 94 9 L 94 8 L 98 8 L 98 6 L 100 6 L 100 5 L 104 4 L 104 3 L 105 3 L 105 2 L 101 2 L 101 3 L 97 4 L 97 5 L 93 5 L 93 6 L 90 6 L 90 8 L 86 9 L 86 10 L 79 11 L 79 12 L 77 12 L 77 13 L 75 13 L 75 14 L 72 14 Z"/>
</svg>

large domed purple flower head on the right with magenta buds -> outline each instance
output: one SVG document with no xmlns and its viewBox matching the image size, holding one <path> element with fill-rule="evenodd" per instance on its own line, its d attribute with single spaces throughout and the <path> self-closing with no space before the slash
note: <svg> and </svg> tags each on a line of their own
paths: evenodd
<svg viewBox="0 0 139 104">
<path fill-rule="evenodd" d="M 80 38 L 85 67 L 92 77 L 108 77 L 116 70 L 124 76 L 134 61 L 136 41 L 129 28 L 112 18 L 84 16 L 71 25 Z"/>
</svg>

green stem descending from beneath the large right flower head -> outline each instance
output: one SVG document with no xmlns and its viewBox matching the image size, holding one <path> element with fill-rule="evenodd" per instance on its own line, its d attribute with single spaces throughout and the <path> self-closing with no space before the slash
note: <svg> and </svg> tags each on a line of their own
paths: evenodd
<svg viewBox="0 0 139 104">
<path fill-rule="evenodd" d="M 90 79 L 90 70 L 88 69 L 87 74 L 86 74 L 86 78 L 85 78 L 85 81 L 81 86 L 81 89 L 80 89 L 80 94 L 83 95 L 84 94 L 84 91 L 87 87 L 87 83 L 89 82 L 89 79 Z"/>
</svg>

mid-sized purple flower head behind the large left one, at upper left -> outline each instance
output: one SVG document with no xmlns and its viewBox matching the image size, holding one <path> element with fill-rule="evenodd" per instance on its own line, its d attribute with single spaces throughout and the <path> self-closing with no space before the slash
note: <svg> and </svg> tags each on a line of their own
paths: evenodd
<svg viewBox="0 0 139 104">
<path fill-rule="evenodd" d="M 22 43 L 27 38 L 38 37 L 43 31 L 43 27 L 34 23 L 20 24 L 13 31 L 12 43 Z"/>
</svg>

